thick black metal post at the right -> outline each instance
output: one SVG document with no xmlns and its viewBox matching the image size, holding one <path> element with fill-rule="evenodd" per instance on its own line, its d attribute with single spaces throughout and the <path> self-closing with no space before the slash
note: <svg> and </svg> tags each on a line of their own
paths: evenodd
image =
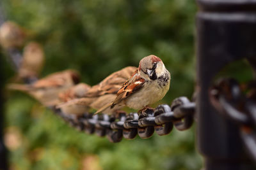
<svg viewBox="0 0 256 170">
<path fill-rule="evenodd" d="M 209 87 L 226 64 L 243 57 L 256 59 L 256 1 L 197 2 L 197 145 L 204 155 L 205 170 L 255 169 L 237 126 L 210 104 Z"/>
</svg>

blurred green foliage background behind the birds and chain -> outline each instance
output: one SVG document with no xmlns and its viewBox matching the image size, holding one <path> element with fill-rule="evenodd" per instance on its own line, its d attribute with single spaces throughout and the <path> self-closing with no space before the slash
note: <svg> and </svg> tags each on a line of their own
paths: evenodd
<svg viewBox="0 0 256 170">
<path fill-rule="evenodd" d="M 6 18 L 24 28 L 27 41 L 42 45 L 45 66 L 40 76 L 77 69 L 83 82 L 95 85 L 108 74 L 138 66 L 140 59 L 154 54 L 172 74 L 170 91 L 157 104 L 193 94 L 194 1 L 1 0 L 0 4 Z M 0 55 L 4 82 L 11 82 L 15 71 L 3 49 Z M 195 127 L 113 144 L 76 131 L 21 92 L 4 90 L 4 101 L 4 142 L 11 169 L 202 167 Z"/>
</svg>

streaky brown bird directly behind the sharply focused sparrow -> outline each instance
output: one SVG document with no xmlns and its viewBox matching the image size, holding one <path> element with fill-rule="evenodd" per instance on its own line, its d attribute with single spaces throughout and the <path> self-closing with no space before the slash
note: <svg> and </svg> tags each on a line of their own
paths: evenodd
<svg viewBox="0 0 256 170">
<path fill-rule="evenodd" d="M 134 73 L 136 67 L 125 67 L 120 71 L 110 74 L 99 84 L 94 85 L 85 94 L 75 99 L 68 100 L 66 103 L 58 104 L 56 108 L 60 108 L 64 113 L 81 115 L 91 108 L 98 110 L 105 104 L 115 99 L 116 92 L 122 87 L 122 84 Z M 114 113 L 119 108 L 105 110 L 104 113 Z"/>
</svg>

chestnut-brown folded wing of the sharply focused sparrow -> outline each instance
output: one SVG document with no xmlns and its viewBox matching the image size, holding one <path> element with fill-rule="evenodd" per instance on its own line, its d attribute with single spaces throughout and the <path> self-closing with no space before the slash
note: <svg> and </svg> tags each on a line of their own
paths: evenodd
<svg viewBox="0 0 256 170">
<path fill-rule="evenodd" d="M 127 97 L 134 94 L 134 92 L 137 92 L 138 90 L 140 90 L 141 87 L 143 87 L 144 83 L 145 83 L 144 78 L 141 78 L 141 76 L 139 76 L 138 73 L 134 74 L 134 76 L 132 76 L 131 79 L 126 81 L 122 86 L 122 88 L 118 90 L 116 94 L 116 99 L 111 104 L 111 108 L 113 108 L 116 104 L 122 102 Z"/>
</svg>

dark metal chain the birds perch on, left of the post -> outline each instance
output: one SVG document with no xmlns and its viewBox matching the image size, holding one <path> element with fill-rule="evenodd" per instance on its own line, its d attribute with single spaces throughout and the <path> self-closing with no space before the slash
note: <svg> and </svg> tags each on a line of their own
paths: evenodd
<svg viewBox="0 0 256 170">
<path fill-rule="evenodd" d="M 109 141 L 116 143 L 122 138 L 134 139 L 136 135 L 147 139 L 157 132 L 159 136 L 169 134 L 173 126 L 179 131 L 189 129 L 193 124 L 195 103 L 191 103 L 187 97 L 175 99 L 171 106 L 161 104 L 156 109 L 147 109 L 140 116 L 138 113 L 119 113 L 118 117 L 113 115 L 95 115 L 84 113 L 82 116 L 61 113 L 60 110 L 52 108 L 54 113 L 68 122 L 72 127 L 88 134 L 107 136 Z"/>
</svg>

